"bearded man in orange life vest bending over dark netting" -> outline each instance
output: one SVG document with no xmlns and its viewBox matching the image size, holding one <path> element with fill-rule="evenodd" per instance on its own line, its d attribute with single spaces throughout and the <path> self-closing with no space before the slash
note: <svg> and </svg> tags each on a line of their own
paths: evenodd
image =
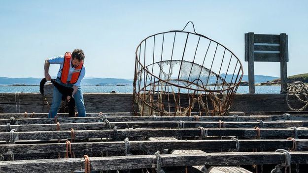
<svg viewBox="0 0 308 173">
<path fill-rule="evenodd" d="M 60 69 L 57 75 L 56 82 L 65 87 L 72 87 L 72 97 L 75 99 L 75 104 L 78 111 L 78 116 L 86 116 L 82 90 L 80 87 L 81 80 L 85 75 L 85 67 L 83 60 L 85 56 L 81 49 L 75 49 L 72 53 L 67 52 L 64 56 L 49 58 L 45 60 L 44 71 L 47 81 L 51 80 L 49 75 L 50 64 L 60 64 Z M 54 87 L 52 95 L 52 104 L 49 110 L 48 117 L 53 118 L 57 115 L 58 108 L 61 104 L 62 94 Z M 70 99 L 70 96 L 67 97 Z"/>
</svg>

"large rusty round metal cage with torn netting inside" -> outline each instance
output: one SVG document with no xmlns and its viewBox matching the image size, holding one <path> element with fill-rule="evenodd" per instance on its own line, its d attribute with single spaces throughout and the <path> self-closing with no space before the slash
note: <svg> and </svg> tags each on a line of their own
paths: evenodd
<svg viewBox="0 0 308 173">
<path fill-rule="evenodd" d="M 184 31 L 191 23 L 193 32 Z M 243 69 L 229 49 L 182 30 L 151 35 L 136 49 L 135 114 L 226 115 L 240 85 Z"/>
</svg>

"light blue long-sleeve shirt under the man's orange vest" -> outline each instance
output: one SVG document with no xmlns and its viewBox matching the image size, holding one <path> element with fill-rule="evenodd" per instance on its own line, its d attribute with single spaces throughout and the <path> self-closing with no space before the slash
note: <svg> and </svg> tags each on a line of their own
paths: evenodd
<svg viewBox="0 0 308 173">
<path fill-rule="evenodd" d="M 71 61 L 71 59 L 70 59 L 70 61 Z M 62 69 L 63 69 L 63 65 L 64 65 L 64 56 L 49 58 L 48 62 L 51 63 L 51 64 L 60 64 L 60 69 L 59 69 L 57 76 L 59 78 L 61 78 L 61 73 L 62 73 Z M 68 81 L 70 81 L 71 75 L 72 75 L 74 70 L 75 70 L 75 68 L 71 66 L 71 63 L 69 63 Z M 85 74 L 86 74 L 86 69 L 85 69 L 85 66 L 83 64 L 82 69 L 80 71 L 79 78 L 78 78 L 77 82 L 74 84 L 74 86 L 80 86 L 81 80 L 84 78 Z"/>
</svg>

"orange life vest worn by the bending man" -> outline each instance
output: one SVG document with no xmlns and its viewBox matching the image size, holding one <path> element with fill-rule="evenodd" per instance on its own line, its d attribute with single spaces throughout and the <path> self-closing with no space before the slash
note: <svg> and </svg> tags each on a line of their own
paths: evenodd
<svg viewBox="0 0 308 173">
<path fill-rule="evenodd" d="M 61 82 L 63 84 L 67 84 L 68 82 L 68 72 L 70 67 L 70 59 L 71 59 L 71 52 L 66 52 L 64 55 L 64 64 L 61 71 Z M 71 75 L 69 84 L 75 84 L 80 76 L 80 72 L 83 66 L 83 61 L 76 67 Z"/>
</svg>

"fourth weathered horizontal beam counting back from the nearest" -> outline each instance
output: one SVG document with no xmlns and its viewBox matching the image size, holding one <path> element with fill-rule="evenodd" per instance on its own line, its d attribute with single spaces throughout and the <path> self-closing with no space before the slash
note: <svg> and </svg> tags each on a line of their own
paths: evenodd
<svg viewBox="0 0 308 173">
<path fill-rule="evenodd" d="M 180 125 L 183 125 L 181 127 Z M 308 121 L 266 121 L 263 122 L 263 128 L 286 128 L 286 127 L 308 127 Z M 144 122 L 110 122 L 111 129 L 115 126 L 119 128 L 253 128 L 260 127 L 260 122 L 224 122 L 224 125 L 213 121 L 179 122 L 179 121 L 144 121 Z M 107 129 L 104 122 L 89 123 L 66 123 L 60 124 L 61 130 L 103 130 Z M 0 132 L 6 131 L 6 125 L 0 125 Z M 11 125 L 11 129 L 18 132 L 25 131 L 52 131 L 57 128 L 56 124 L 22 124 Z"/>
</svg>

